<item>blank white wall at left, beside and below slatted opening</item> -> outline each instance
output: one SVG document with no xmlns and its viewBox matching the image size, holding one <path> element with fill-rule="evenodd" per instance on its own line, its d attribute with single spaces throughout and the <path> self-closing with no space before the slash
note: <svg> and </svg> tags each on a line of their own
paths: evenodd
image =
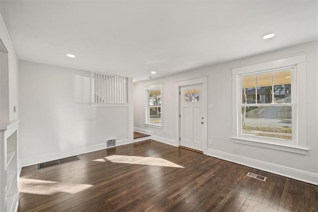
<svg viewBox="0 0 318 212">
<path fill-rule="evenodd" d="M 19 61 L 22 166 L 129 142 L 129 107 L 90 106 L 89 80 L 87 71 Z"/>
</svg>

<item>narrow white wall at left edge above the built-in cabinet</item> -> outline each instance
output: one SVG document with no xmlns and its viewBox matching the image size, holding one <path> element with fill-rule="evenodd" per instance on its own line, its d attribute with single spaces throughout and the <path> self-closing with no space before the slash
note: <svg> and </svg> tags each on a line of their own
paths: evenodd
<svg viewBox="0 0 318 212">
<path fill-rule="evenodd" d="M 1 120 L 17 120 L 19 118 L 18 115 L 18 58 L 15 54 L 14 47 L 12 45 L 9 34 L 6 30 L 5 24 L 3 22 L 2 16 L 0 14 L 0 39 L 4 44 L 7 54 L 8 54 L 8 70 L 1 69 L 0 71 L 8 71 L 5 75 L 5 79 L 8 82 L 8 88 L 5 92 L 8 94 L 8 102 L 7 99 L 5 101 L 1 101 L 1 108 L 5 107 L 5 114 L 1 113 Z M 2 81 L 3 79 L 1 79 Z M 2 88 L 2 86 L 1 86 Z M 2 106 L 4 104 L 5 106 Z M 16 112 L 13 112 L 13 106 L 16 106 Z M 7 109 L 8 108 L 8 109 Z M 8 111 L 7 111 L 8 110 Z"/>
</svg>

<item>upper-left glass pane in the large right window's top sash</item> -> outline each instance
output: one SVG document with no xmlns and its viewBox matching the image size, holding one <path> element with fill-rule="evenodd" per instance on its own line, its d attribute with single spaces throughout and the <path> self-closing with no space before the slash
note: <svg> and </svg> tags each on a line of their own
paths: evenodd
<svg viewBox="0 0 318 212">
<path fill-rule="evenodd" d="M 256 76 L 242 78 L 242 104 L 256 103 L 255 88 Z"/>
</svg>

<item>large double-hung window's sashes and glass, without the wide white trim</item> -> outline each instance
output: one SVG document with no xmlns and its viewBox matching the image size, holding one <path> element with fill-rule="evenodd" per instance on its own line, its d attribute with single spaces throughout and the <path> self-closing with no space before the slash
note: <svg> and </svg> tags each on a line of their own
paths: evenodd
<svg viewBox="0 0 318 212">
<path fill-rule="evenodd" d="M 239 76 L 241 135 L 295 140 L 294 67 Z"/>
</svg>

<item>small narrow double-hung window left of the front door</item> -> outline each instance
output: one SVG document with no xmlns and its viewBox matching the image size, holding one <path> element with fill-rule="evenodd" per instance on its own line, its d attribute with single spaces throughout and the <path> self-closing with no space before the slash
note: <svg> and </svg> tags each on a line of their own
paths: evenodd
<svg viewBox="0 0 318 212">
<path fill-rule="evenodd" d="M 145 87 L 146 122 L 145 125 L 162 128 L 162 85 Z"/>
</svg>

